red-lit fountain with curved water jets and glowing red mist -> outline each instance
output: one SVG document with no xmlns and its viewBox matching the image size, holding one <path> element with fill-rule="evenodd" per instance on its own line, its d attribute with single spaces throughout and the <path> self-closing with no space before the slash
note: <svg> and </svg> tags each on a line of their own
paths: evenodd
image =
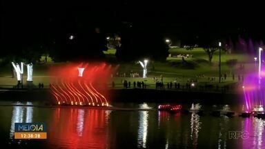
<svg viewBox="0 0 265 149">
<path fill-rule="evenodd" d="M 106 99 L 110 66 L 69 65 L 53 68 L 50 92 L 58 105 L 109 106 Z"/>
</svg>

